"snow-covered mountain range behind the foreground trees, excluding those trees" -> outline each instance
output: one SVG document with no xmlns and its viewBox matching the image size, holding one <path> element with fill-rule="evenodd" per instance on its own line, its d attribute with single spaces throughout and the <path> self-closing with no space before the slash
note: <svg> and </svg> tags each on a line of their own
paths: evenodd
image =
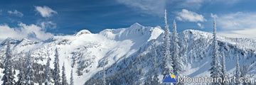
<svg viewBox="0 0 256 85">
<path fill-rule="evenodd" d="M 0 67 L 3 71 L 6 41 L 10 40 L 14 54 L 14 66 L 18 70 L 31 52 L 34 74 L 43 74 L 47 58 L 53 69 L 55 49 L 58 49 L 60 67 L 65 62 L 67 79 L 73 69 L 75 85 L 102 84 L 105 67 L 107 84 L 144 84 L 153 72 L 153 52 L 157 52 L 159 82 L 164 77 L 160 67 L 163 60 L 164 30 L 156 26 L 146 27 L 134 23 L 129 28 L 106 29 L 100 33 L 80 30 L 75 35 L 54 36 L 48 40 L 32 41 L 26 38 L 14 40 L 8 38 L 0 45 Z M 178 33 L 178 45 L 182 57 L 183 74 L 189 77 L 210 76 L 212 57 L 212 33 L 200 30 L 184 30 Z M 239 55 L 240 67 L 247 67 L 247 76 L 256 79 L 256 41 L 248 38 L 225 38 L 218 36 L 219 51 L 225 52 L 228 75 L 235 71 L 236 55 Z M 18 72 L 16 72 L 18 74 Z M 61 73 L 60 73 L 61 74 Z M 3 74 L 0 74 L 2 77 Z M 35 82 L 44 77 L 36 76 Z M 43 80 L 44 81 L 44 80 Z"/>
</svg>

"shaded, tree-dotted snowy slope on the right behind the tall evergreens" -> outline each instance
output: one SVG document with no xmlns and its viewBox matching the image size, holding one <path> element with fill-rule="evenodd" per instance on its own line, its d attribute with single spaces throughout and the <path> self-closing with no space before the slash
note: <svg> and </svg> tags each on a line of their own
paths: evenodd
<svg viewBox="0 0 256 85">
<path fill-rule="evenodd" d="M 212 33 L 202 32 L 200 30 L 184 30 L 178 34 L 179 46 L 183 64 L 183 74 L 188 77 L 210 77 L 210 62 L 212 57 Z M 163 81 L 163 68 L 161 61 L 163 59 L 163 35 L 156 40 L 147 42 L 140 47 L 140 50 L 133 56 L 127 57 L 122 62 L 117 62 L 109 67 L 107 72 L 107 81 L 110 84 L 144 84 L 148 77 L 152 77 L 153 52 L 157 52 L 157 62 L 159 62 L 158 75 L 159 82 Z M 247 38 L 225 38 L 218 36 L 218 45 L 220 53 L 225 52 L 226 69 L 231 77 L 235 73 L 236 55 L 240 60 L 240 67 L 246 66 L 250 72 L 247 76 L 255 78 L 255 40 Z M 245 47 L 247 45 L 247 47 Z M 136 75 L 134 77 L 134 75 Z M 116 80 L 118 79 L 118 80 Z M 86 84 L 101 84 L 102 72 L 96 74 Z"/>
</svg>

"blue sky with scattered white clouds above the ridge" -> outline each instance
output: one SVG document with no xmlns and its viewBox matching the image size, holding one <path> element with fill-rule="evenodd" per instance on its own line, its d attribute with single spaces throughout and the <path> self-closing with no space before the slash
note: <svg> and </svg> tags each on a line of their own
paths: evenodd
<svg viewBox="0 0 256 85">
<path fill-rule="evenodd" d="M 87 29 L 127 28 L 133 23 L 164 27 L 164 9 L 169 26 L 177 30 L 212 32 L 216 17 L 218 34 L 255 38 L 254 0 L 1 0 L 0 40 L 29 38 L 45 40 L 52 35 L 72 35 Z"/>
</svg>

